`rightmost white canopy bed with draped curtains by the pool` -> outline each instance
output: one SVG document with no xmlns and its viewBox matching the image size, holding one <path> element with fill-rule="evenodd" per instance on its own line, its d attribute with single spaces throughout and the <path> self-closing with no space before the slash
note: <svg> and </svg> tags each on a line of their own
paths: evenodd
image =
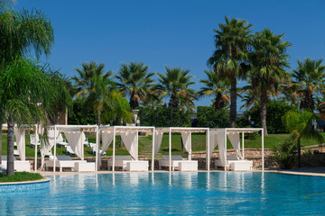
<svg viewBox="0 0 325 216">
<path fill-rule="evenodd" d="M 245 160 L 244 154 L 244 137 L 245 133 L 261 131 L 262 135 L 262 170 L 264 170 L 264 130 L 261 128 L 222 128 L 210 129 L 209 145 L 207 144 L 207 169 L 209 171 L 210 158 L 214 148 L 218 146 L 219 157 L 215 161 L 217 166 L 224 166 L 225 170 L 231 168 L 234 171 L 251 171 L 253 162 Z M 242 135 L 242 149 L 240 149 L 239 135 Z M 236 155 L 227 156 L 227 137 L 235 149 Z"/>
</svg>

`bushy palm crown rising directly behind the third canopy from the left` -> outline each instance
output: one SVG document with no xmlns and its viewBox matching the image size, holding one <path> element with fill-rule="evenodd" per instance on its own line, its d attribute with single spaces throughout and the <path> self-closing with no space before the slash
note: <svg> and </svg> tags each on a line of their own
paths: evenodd
<svg viewBox="0 0 325 216">
<path fill-rule="evenodd" d="M 193 105 L 195 92 L 190 88 L 190 85 L 195 82 L 190 81 L 193 76 L 189 75 L 189 69 L 181 69 L 181 67 L 166 67 L 166 75 L 158 74 L 159 76 L 159 89 L 163 95 L 169 95 L 172 101 L 173 108 L 179 108 Z"/>
</svg>

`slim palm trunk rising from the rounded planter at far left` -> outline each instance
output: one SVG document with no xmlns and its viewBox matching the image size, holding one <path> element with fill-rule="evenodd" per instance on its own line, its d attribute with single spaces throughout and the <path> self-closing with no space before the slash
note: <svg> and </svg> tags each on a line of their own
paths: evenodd
<svg viewBox="0 0 325 216">
<path fill-rule="evenodd" d="M 14 121 L 10 118 L 7 121 L 7 175 L 14 175 Z"/>
</svg>

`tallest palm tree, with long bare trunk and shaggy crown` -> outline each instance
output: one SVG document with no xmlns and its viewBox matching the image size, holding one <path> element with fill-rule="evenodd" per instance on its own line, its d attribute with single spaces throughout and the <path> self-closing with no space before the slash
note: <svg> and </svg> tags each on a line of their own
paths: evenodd
<svg viewBox="0 0 325 216">
<path fill-rule="evenodd" d="M 237 78 L 246 78 L 246 55 L 251 44 L 252 26 L 246 20 L 229 20 L 226 24 L 219 23 L 219 31 L 214 30 L 216 50 L 208 60 L 222 79 L 230 81 L 230 127 L 236 127 L 237 117 Z"/>
</svg>

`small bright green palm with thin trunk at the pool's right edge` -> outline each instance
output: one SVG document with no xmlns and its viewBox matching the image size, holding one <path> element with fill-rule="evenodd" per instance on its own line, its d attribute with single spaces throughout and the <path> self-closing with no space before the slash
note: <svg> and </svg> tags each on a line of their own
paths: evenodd
<svg viewBox="0 0 325 216">
<path fill-rule="evenodd" d="M 316 117 L 312 112 L 287 112 L 283 116 L 283 124 L 286 129 L 291 133 L 291 139 L 297 144 L 298 148 L 298 166 L 302 167 L 302 150 L 301 150 L 301 139 L 317 139 L 322 143 L 323 137 L 320 132 L 314 130 L 312 122 Z"/>
</svg>

